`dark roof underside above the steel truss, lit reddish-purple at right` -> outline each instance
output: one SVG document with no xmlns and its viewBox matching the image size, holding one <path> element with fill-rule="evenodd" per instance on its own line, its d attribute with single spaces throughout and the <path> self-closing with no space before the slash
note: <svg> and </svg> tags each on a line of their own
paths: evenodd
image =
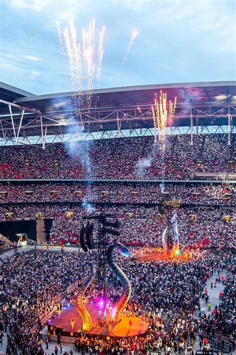
<svg viewBox="0 0 236 355">
<path fill-rule="evenodd" d="M 224 102 L 231 102 L 232 98 L 236 101 L 236 82 L 234 81 L 128 86 L 94 90 L 92 95 L 97 108 L 118 108 L 153 104 L 154 95 L 158 94 L 160 90 L 167 93 L 169 100 L 174 101 L 177 97 L 179 104 L 215 103 L 219 102 L 219 97 L 223 98 Z M 60 105 L 59 110 L 62 110 L 66 109 L 68 105 L 73 106 L 74 104 L 72 92 L 34 97 L 27 95 L 27 97 L 17 98 L 15 102 L 43 112 L 55 110 L 58 105 Z"/>
</svg>

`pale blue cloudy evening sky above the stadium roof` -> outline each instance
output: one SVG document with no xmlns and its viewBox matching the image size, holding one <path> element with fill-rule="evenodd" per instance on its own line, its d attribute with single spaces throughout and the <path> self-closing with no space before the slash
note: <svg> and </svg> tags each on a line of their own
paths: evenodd
<svg viewBox="0 0 236 355">
<path fill-rule="evenodd" d="M 236 80 L 236 1 L 1 0 L 0 81 L 33 94 L 72 90 L 56 20 L 106 25 L 101 88 Z M 138 35 L 119 70 L 132 34 Z"/>
</svg>

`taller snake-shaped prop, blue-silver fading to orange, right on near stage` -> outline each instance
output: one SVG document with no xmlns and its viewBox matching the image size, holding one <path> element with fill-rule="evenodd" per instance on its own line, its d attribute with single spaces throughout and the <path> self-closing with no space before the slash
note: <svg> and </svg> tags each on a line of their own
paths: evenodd
<svg viewBox="0 0 236 355">
<path fill-rule="evenodd" d="M 124 309 L 124 307 L 128 303 L 129 298 L 131 296 L 130 282 L 129 282 L 127 276 L 125 275 L 125 273 L 120 269 L 120 267 L 114 261 L 114 253 L 115 253 L 116 249 L 118 249 L 118 251 L 122 255 L 125 255 L 128 257 L 130 256 L 126 246 L 124 246 L 123 244 L 118 243 L 118 242 L 111 244 L 107 250 L 108 265 L 112 269 L 114 274 L 120 280 L 122 288 L 123 288 L 122 294 L 121 294 L 120 298 L 118 299 L 114 309 L 111 312 L 111 321 L 114 323 L 118 323 L 120 313 L 122 312 L 122 310 Z"/>
</svg>

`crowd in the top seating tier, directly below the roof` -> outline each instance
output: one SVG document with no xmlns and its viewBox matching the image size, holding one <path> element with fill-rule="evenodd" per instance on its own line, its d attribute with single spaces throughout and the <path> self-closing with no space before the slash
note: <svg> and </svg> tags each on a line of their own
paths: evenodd
<svg viewBox="0 0 236 355">
<path fill-rule="evenodd" d="M 226 134 L 100 139 L 37 146 L 4 147 L 0 153 L 4 179 L 185 179 L 194 172 L 230 172 L 234 137 Z"/>
</svg>

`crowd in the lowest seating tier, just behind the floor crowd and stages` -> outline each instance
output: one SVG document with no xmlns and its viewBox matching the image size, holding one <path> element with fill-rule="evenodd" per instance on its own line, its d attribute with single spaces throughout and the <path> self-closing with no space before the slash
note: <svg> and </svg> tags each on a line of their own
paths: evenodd
<svg viewBox="0 0 236 355">
<path fill-rule="evenodd" d="M 158 206 L 4 205 L 0 207 L 0 221 L 8 219 L 11 213 L 16 220 L 37 218 L 39 212 L 41 217 L 53 219 L 50 233 L 47 236 L 53 243 L 58 243 L 60 240 L 76 242 L 83 224 L 82 217 L 94 212 L 104 212 L 118 216 L 121 222 L 119 241 L 161 246 L 161 233 L 165 220 L 161 217 Z M 193 206 L 192 208 L 171 209 L 170 214 L 173 213 L 176 213 L 178 217 L 178 231 L 182 247 L 231 248 L 236 245 L 233 210 Z M 96 230 L 94 235 L 96 237 Z"/>
</svg>

